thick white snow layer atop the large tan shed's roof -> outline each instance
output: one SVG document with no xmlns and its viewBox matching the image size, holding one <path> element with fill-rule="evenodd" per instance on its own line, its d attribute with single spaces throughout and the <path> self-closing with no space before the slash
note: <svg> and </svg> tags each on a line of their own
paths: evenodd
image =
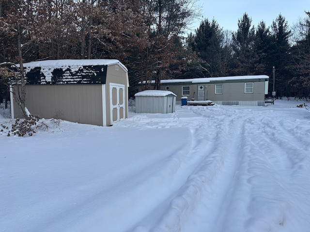
<svg viewBox="0 0 310 232">
<path fill-rule="evenodd" d="M 35 67 L 48 67 L 48 68 L 59 68 L 68 66 L 91 66 L 91 65 L 113 65 L 119 64 L 128 71 L 127 68 L 118 59 L 53 59 L 53 60 L 41 60 L 24 63 L 23 66 L 27 68 Z M 19 67 L 19 64 L 17 64 Z"/>
</svg>

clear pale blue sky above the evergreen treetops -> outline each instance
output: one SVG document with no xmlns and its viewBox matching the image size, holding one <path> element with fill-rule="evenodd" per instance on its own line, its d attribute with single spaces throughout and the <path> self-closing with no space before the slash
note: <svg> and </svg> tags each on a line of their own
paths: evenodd
<svg viewBox="0 0 310 232">
<path fill-rule="evenodd" d="M 282 14 L 290 26 L 305 18 L 305 11 L 310 11 L 310 0 L 198 0 L 202 5 L 202 16 L 199 22 L 193 24 L 197 29 L 200 22 L 208 18 L 215 18 L 223 29 L 236 31 L 238 19 L 244 13 L 252 18 L 251 26 L 257 27 L 264 21 L 266 26 L 271 26 L 279 14 Z"/>
</svg>

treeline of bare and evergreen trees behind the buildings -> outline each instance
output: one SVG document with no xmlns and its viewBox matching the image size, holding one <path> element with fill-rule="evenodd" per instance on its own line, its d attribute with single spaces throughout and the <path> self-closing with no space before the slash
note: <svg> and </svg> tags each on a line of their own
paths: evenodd
<svg viewBox="0 0 310 232">
<path fill-rule="evenodd" d="M 310 13 L 289 27 L 285 16 L 256 27 L 240 15 L 237 31 L 199 17 L 196 0 L 0 0 L 0 63 L 116 58 L 138 82 L 266 74 L 277 97 L 310 96 Z M 7 98 L 5 68 L 0 94 Z M 158 85 L 155 85 L 158 86 Z M 145 86 L 144 88 L 149 88 Z M 270 92 L 270 91 L 269 91 Z M 269 93 L 271 94 L 271 92 Z"/>
</svg>

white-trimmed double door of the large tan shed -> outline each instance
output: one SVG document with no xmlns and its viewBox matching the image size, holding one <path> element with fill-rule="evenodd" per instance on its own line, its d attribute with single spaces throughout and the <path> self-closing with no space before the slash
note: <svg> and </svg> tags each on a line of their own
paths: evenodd
<svg viewBox="0 0 310 232">
<path fill-rule="evenodd" d="M 125 118 L 125 86 L 110 83 L 111 125 Z"/>
</svg>

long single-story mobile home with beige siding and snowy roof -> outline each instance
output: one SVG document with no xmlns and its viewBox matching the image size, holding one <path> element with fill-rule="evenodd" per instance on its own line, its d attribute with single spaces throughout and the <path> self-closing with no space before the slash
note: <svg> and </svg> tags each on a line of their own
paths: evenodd
<svg viewBox="0 0 310 232">
<path fill-rule="evenodd" d="M 175 93 L 177 104 L 181 104 L 181 98 L 186 96 L 189 100 L 210 100 L 223 105 L 263 106 L 268 81 L 267 75 L 171 79 L 161 80 L 160 89 Z"/>
</svg>

